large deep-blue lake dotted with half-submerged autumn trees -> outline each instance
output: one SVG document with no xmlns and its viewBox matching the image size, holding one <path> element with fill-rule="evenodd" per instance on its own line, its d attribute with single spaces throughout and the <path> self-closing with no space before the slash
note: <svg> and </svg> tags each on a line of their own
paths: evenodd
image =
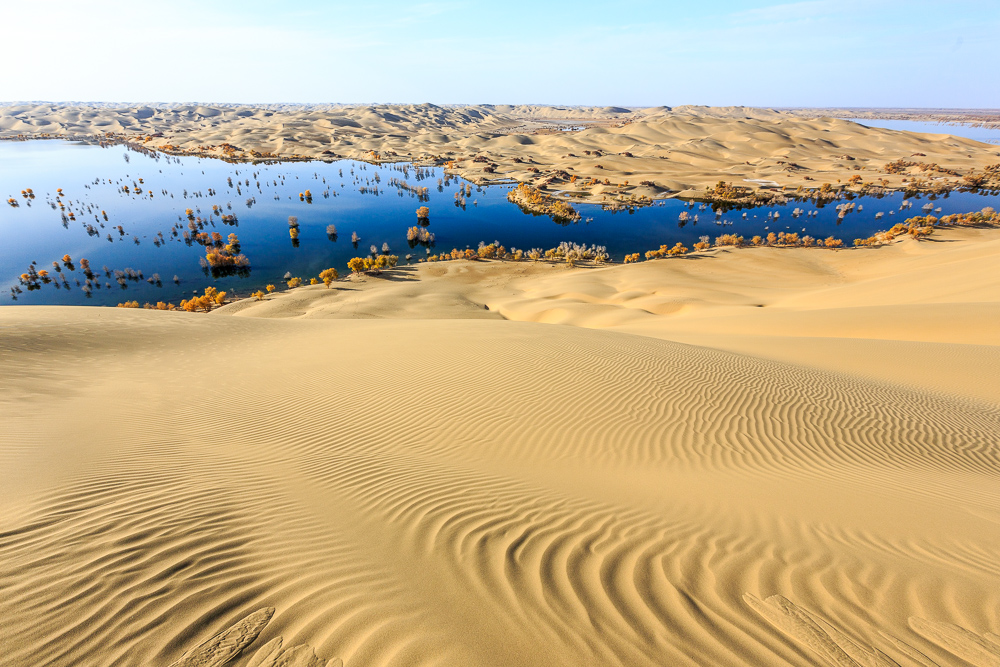
<svg viewBox="0 0 1000 667">
<path fill-rule="evenodd" d="M 427 201 L 393 186 L 393 179 L 428 188 Z M 444 180 L 440 188 L 438 179 Z M 124 185 L 130 190 L 140 185 L 144 194 L 125 193 Z M 460 187 L 472 190 L 464 209 L 455 205 Z M 426 256 L 427 249 L 411 248 L 406 231 L 417 223 L 415 211 L 419 206 L 430 208 L 428 229 L 436 236 L 431 252 L 474 248 L 479 241 L 499 240 L 508 248 L 524 249 L 550 248 L 561 241 L 573 241 L 604 245 L 615 260 L 661 244 L 682 241 L 690 246 L 703 235 L 714 240 L 721 233 L 732 232 L 748 237 L 768 231 L 795 231 L 817 238 L 834 235 L 849 245 L 854 238 L 870 236 L 921 214 L 927 203 L 940 208 L 940 214 L 985 206 L 1000 208 L 1000 197 L 996 195 L 951 193 L 914 198 L 912 208 L 900 210 L 904 196 L 894 194 L 881 199 L 856 198 L 853 201 L 860 206 L 838 220 L 839 202 L 822 207 L 808 201 L 789 202 L 717 216 L 711 208 L 692 208 L 680 200 L 667 200 L 632 213 L 576 205 L 584 220 L 560 225 L 544 216 L 525 214 L 509 203 L 506 196 L 510 187 L 480 188 L 445 178 L 441 168 L 418 170 L 409 165 L 376 167 L 352 161 L 229 164 L 211 159 L 149 156 L 122 146 L 0 142 L 0 195 L 4 200 L 15 197 L 21 202 L 18 208 L 0 205 L 0 298 L 5 304 L 114 305 L 133 299 L 140 303 L 177 303 L 210 284 L 245 295 L 267 283 L 280 286 L 286 272 L 309 278 L 335 267 L 344 274 L 348 259 L 367 254 L 373 244 L 381 248 L 383 243 L 399 255 L 401 264 L 406 263 L 407 254 L 412 254 L 411 261 L 416 262 Z M 26 188 L 35 193 L 30 202 L 20 195 Z M 63 190 L 65 212 L 56 204 L 57 188 Z M 375 188 L 377 195 L 373 194 Z M 215 194 L 210 194 L 210 189 Z M 307 189 L 312 191 L 311 203 L 299 199 L 299 193 Z M 152 197 L 148 191 L 153 192 Z M 210 215 L 213 204 L 225 214 L 235 214 L 237 224 L 226 225 L 219 216 Z M 796 207 L 817 214 L 793 218 L 791 213 Z M 199 265 L 204 249 L 196 243 L 185 243 L 180 236 L 188 228 L 187 208 L 209 221 L 204 231 L 218 231 L 223 237 L 235 232 L 239 236 L 242 252 L 251 262 L 249 275 L 213 278 Z M 101 216 L 102 209 L 107 212 L 107 221 Z M 70 211 L 75 220 L 64 220 L 63 215 Z M 698 221 L 682 226 L 679 215 L 684 211 L 691 218 L 697 215 Z M 881 220 L 875 217 L 878 212 L 884 215 Z M 772 213 L 780 217 L 769 218 Z M 299 220 L 298 244 L 289 237 L 289 216 Z M 338 232 L 335 241 L 326 232 L 331 224 Z M 88 233 L 87 225 L 92 227 L 92 233 Z M 173 236 L 173 229 L 178 230 L 178 236 Z M 161 232 L 164 242 L 156 245 L 154 240 Z M 351 243 L 352 232 L 361 237 L 357 248 Z M 10 288 L 18 285 L 17 276 L 31 262 L 37 262 L 38 269 L 58 275 L 52 262 L 65 254 L 77 263 L 75 271 L 62 268 L 69 288 L 50 283 L 12 299 Z M 78 265 L 81 258 L 90 261 L 102 285 L 89 297 L 77 285 L 77 280 L 84 281 Z M 114 278 L 105 276 L 105 266 L 112 272 L 126 268 L 142 271 L 143 279 L 127 280 L 127 287 L 122 289 Z M 158 274 L 160 281 L 146 282 L 145 278 L 153 274 Z M 174 276 L 178 278 L 176 284 Z M 61 284 L 61 278 L 56 282 Z"/>
</svg>

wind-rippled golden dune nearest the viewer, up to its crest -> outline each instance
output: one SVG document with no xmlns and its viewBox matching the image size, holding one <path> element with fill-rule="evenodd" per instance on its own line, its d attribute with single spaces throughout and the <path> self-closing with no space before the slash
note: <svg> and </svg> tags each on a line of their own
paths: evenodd
<svg viewBox="0 0 1000 667">
<path fill-rule="evenodd" d="M 6 474 L 86 455 L 3 498 L 0 664 L 168 665 L 263 607 L 349 667 L 993 664 L 995 406 L 528 323 L 162 318 L 107 355 L 153 316 L 22 350 L 74 393 L 8 412 Z"/>
</svg>

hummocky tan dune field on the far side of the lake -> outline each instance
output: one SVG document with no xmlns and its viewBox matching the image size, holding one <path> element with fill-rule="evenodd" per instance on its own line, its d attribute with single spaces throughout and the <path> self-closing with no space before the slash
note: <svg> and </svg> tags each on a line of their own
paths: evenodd
<svg viewBox="0 0 1000 667">
<path fill-rule="evenodd" d="M 905 188 L 915 178 L 925 187 L 953 187 L 964 176 L 1000 165 L 1000 148 L 989 144 L 867 128 L 803 110 L 433 104 L 0 107 L 0 139 L 93 140 L 108 133 L 151 149 L 235 160 L 447 164 L 450 172 L 477 183 L 518 181 L 568 199 L 618 204 L 704 196 L 706 187 L 720 180 L 789 193 L 824 183 L 848 187 L 854 176 L 877 187 Z M 897 160 L 913 164 L 885 169 Z M 991 173 L 1000 186 L 1000 171 Z"/>
</svg>

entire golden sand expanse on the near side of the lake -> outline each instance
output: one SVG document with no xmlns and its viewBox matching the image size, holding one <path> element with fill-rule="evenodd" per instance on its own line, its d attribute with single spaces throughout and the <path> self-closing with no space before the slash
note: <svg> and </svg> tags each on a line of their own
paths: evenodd
<svg viewBox="0 0 1000 667">
<path fill-rule="evenodd" d="M 951 229 L 0 309 L 0 664 L 998 665 L 998 269 Z"/>
</svg>

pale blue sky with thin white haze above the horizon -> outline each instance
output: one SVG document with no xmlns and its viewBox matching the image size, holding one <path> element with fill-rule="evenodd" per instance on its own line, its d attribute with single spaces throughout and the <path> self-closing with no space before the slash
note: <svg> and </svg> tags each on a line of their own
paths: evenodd
<svg viewBox="0 0 1000 667">
<path fill-rule="evenodd" d="M 34 0 L 0 100 L 1000 107 L 1000 0 Z"/>
</svg>

